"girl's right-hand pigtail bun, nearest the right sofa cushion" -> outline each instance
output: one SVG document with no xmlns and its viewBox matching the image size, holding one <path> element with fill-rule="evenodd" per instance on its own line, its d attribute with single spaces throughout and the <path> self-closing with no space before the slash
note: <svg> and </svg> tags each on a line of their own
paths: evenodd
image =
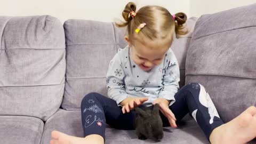
<svg viewBox="0 0 256 144">
<path fill-rule="evenodd" d="M 175 33 L 177 35 L 188 34 L 188 29 L 186 25 L 187 15 L 183 12 L 175 14 Z"/>
</svg>

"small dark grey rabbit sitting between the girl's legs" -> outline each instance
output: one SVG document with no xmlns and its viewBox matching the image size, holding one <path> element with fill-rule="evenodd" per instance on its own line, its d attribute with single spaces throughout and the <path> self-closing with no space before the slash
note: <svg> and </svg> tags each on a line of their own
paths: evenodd
<svg viewBox="0 0 256 144">
<path fill-rule="evenodd" d="M 161 141 L 163 138 L 163 122 L 159 115 L 159 105 L 156 103 L 153 110 L 148 107 L 145 107 L 145 110 L 137 107 L 135 112 L 135 127 L 138 139 L 146 140 L 149 138 Z"/>
</svg>

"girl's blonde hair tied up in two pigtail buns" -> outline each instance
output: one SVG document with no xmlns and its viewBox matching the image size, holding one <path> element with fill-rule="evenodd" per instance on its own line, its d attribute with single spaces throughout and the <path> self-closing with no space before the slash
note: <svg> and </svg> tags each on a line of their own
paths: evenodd
<svg viewBox="0 0 256 144">
<path fill-rule="evenodd" d="M 116 23 L 118 27 L 127 26 L 127 34 L 129 39 L 133 39 L 135 29 L 143 22 L 146 26 L 141 29 L 139 34 L 145 35 L 147 38 L 153 40 L 154 38 L 165 38 L 170 34 L 186 35 L 188 30 L 183 24 L 187 20 L 185 13 L 179 12 L 175 14 L 175 20 L 171 13 L 162 6 L 143 6 L 137 11 L 135 17 L 131 17 L 130 12 L 136 12 L 136 5 L 133 2 L 126 4 L 123 11 L 123 18 L 125 22 Z"/>
</svg>

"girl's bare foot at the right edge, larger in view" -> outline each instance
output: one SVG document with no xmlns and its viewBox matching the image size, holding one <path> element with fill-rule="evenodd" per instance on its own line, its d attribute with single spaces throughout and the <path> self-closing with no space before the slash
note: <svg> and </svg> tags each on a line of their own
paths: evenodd
<svg viewBox="0 0 256 144">
<path fill-rule="evenodd" d="M 256 108 L 251 106 L 230 122 L 215 128 L 210 142 L 242 144 L 256 137 Z"/>
</svg>

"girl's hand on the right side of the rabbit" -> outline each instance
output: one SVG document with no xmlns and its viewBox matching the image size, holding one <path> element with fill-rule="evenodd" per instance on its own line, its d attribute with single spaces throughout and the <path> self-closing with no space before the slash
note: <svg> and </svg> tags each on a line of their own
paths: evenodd
<svg viewBox="0 0 256 144">
<path fill-rule="evenodd" d="M 164 114 L 164 116 L 168 119 L 170 125 L 175 128 L 177 127 L 175 121 L 176 118 L 174 116 L 174 114 L 172 113 L 172 111 L 169 108 L 169 104 L 170 101 L 166 100 L 164 98 L 157 98 L 154 102 L 153 105 L 155 105 L 156 103 L 158 103 L 159 107 L 160 107 L 160 111 Z"/>
</svg>

